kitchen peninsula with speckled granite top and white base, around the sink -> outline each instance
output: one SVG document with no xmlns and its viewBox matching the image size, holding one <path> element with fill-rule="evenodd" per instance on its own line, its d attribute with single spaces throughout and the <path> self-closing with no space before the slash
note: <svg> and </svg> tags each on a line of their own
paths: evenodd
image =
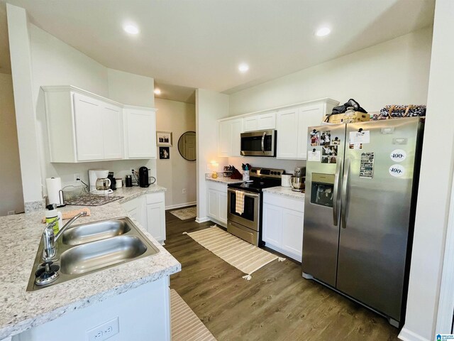
<svg viewBox="0 0 454 341">
<path fill-rule="evenodd" d="M 89 207 L 91 215 L 79 218 L 74 225 L 128 216 L 124 202 L 162 191 L 165 188 L 153 185 L 117 190 L 114 195 L 123 199 Z M 61 211 L 79 208 L 67 206 Z M 0 217 L 0 252 L 4 257 L 0 340 L 13 335 L 12 340 L 43 340 L 39 335 L 44 333 L 46 340 L 86 340 L 90 330 L 115 318 L 121 333 L 112 340 L 146 340 L 142 337 L 149 332 L 161 335 L 155 340 L 170 340 L 169 276 L 180 271 L 181 264 L 132 217 L 159 253 L 39 291 L 26 291 L 45 228 L 43 217 L 43 210 Z M 162 330 L 153 330 L 158 327 Z"/>
</svg>

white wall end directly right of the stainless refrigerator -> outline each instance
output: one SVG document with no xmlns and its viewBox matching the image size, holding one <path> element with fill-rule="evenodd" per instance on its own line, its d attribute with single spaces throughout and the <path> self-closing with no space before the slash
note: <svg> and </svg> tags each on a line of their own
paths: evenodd
<svg viewBox="0 0 454 341">
<path fill-rule="evenodd" d="M 409 296 L 399 335 L 403 340 L 436 340 L 436 334 L 450 332 L 449 325 L 444 330 L 435 326 L 454 169 L 454 124 L 449 109 L 454 93 L 453 13 L 452 0 L 436 1 Z"/>
</svg>

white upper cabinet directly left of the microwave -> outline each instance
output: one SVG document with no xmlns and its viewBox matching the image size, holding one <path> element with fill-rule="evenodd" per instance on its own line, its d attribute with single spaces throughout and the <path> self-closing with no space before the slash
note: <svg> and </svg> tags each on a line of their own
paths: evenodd
<svg viewBox="0 0 454 341">
<path fill-rule="evenodd" d="M 218 156 L 240 156 L 243 119 L 218 121 Z"/>
</svg>

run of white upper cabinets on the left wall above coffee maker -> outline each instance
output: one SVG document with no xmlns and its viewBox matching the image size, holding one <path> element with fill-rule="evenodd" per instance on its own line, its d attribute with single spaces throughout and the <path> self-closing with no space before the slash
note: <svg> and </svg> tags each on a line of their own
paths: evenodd
<svg viewBox="0 0 454 341">
<path fill-rule="evenodd" d="M 123 109 L 121 103 L 72 86 L 42 89 L 50 162 L 121 160 L 130 152 L 129 158 L 156 157 L 154 109 Z M 146 118 L 136 119 L 134 111 Z"/>
</svg>

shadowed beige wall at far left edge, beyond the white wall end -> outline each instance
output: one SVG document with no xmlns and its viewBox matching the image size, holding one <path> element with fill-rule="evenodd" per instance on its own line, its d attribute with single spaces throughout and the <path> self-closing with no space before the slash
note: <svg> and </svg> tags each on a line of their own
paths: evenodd
<svg viewBox="0 0 454 341">
<path fill-rule="evenodd" d="M 13 80 L 0 73 L 0 216 L 23 212 L 21 162 L 14 111 Z"/>
</svg>

